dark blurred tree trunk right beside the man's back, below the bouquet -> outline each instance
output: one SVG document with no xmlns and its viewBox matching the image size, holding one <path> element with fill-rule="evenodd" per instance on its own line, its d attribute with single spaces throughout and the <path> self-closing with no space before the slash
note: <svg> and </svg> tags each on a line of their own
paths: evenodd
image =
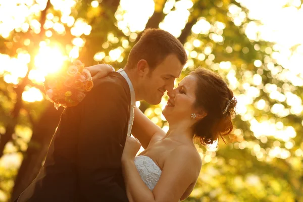
<svg viewBox="0 0 303 202">
<path fill-rule="evenodd" d="M 46 156 L 49 142 L 51 142 L 56 126 L 59 123 L 62 111 L 63 108 L 57 111 L 49 103 L 39 121 L 33 126 L 32 138 L 15 180 L 12 199 L 15 199 L 24 191 L 37 176 Z"/>
</svg>

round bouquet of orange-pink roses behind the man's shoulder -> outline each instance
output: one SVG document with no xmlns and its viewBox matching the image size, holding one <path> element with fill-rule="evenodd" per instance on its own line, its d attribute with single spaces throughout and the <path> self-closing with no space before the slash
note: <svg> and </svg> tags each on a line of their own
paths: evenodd
<svg viewBox="0 0 303 202">
<path fill-rule="evenodd" d="M 59 72 L 47 75 L 44 81 L 45 98 L 54 103 L 57 110 L 60 106 L 78 105 L 92 87 L 90 72 L 84 69 L 84 64 L 79 60 Z"/>
</svg>

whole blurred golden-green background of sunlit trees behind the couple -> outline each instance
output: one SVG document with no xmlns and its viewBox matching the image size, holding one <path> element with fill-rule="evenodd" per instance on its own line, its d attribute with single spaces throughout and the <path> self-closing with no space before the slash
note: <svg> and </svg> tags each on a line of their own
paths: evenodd
<svg viewBox="0 0 303 202">
<path fill-rule="evenodd" d="M 69 58 L 123 68 L 145 27 L 169 31 L 238 99 L 233 133 L 198 146 L 186 201 L 303 201 L 303 7 L 299 0 L 0 0 L 0 201 L 37 175 L 58 125 L 44 76 Z M 162 108 L 137 102 L 168 129 Z"/>
</svg>

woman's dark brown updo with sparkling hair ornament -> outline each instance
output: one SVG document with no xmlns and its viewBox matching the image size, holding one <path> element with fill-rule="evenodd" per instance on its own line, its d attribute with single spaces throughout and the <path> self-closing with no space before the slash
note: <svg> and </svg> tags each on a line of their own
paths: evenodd
<svg viewBox="0 0 303 202">
<path fill-rule="evenodd" d="M 219 136 L 228 135 L 233 125 L 237 100 L 223 78 L 204 68 L 190 73 L 197 78 L 195 107 L 202 108 L 207 116 L 193 127 L 201 144 L 212 144 Z"/>
</svg>

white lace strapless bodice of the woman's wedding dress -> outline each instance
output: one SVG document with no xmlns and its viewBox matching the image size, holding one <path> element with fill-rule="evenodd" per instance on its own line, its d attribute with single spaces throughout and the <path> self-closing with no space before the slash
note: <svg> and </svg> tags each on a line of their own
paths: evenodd
<svg viewBox="0 0 303 202">
<path fill-rule="evenodd" d="M 161 176 L 161 169 L 147 156 L 135 157 L 135 165 L 143 182 L 150 190 L 153 190 Z"/>
</svg>

